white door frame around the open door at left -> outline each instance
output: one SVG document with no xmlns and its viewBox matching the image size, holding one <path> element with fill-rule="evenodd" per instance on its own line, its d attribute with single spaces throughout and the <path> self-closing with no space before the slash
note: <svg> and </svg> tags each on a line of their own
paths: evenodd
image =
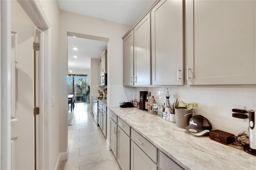
<svg viewBox="0 0 256 170">
<path fill-rule="evenodd" d="M 20 6 L 42 32 L 40 34 L 40 126 L 36 132 L 40 134 L 36 152 L 40 158 L 36 160 L 36 169 L 49 169 L 50 155 L 50 113 L 51 113 L 51 29 L 50 24 L 38 0 L 18 0 Z M 11 5 L 10 1 L 1 1 L 0 25 L 0 169 L 11 167 Z M 5 82 L 4 85 L 2 85 Z"/>
</svg>

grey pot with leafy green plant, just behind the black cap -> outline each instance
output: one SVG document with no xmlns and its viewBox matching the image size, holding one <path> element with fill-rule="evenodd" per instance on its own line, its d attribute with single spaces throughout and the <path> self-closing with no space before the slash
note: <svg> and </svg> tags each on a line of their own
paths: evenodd
<svg viewBox="0 0 256 170">
<path fill-rule="evenodd" d="M 193 115 L 193 107 L 198 107 L 197 103 L 185 103 L 184 101 L 180 101 L 180 104 L 183 107 L 175 107 L 175 120 L 176 127 L 184 128 L 188 126 L 189 119 Z"/>
</svg>

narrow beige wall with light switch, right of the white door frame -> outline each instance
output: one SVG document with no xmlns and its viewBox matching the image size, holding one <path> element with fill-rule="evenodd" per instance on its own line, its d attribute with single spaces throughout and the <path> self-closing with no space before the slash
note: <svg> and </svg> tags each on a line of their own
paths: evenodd
<svg viewBox="0 0 256 170">
<path fill-rule="evenodd" d="M 60 136 L 65 136 L 62 131 L 67 129 L 66 117 L 62 117 L 60 112 L 60 54 L 59 54 L 59 17 L 60 10 L 56 0 L 39 1 L 44 13 L 50 23 L 50 58 L 51 58 L 51 95 L 54 97 L 55 103 L 52 106 L 50 116 L 50 158 L 49 169 L 54 169 L 59 153 L 66 152 L 67 139 L 64 140 Z M 66 76 L 67 77 L 67 76 Z M 61 140 L 60 140 L 61 138 Z"/>
</svg>

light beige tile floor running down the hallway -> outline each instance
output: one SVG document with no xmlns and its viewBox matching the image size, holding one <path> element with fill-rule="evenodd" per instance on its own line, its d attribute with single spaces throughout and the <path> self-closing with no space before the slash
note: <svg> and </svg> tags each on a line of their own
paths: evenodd
<svg viewBox="0 0 256 170">
<path fill-rule="evenodd" d="M 58 170 L 118 170 L 111 150 L 106 147 L 100 127 L 90 114 L 90 104 L 76 103 L 68 111 L 68 160 Z"/>
</svg>

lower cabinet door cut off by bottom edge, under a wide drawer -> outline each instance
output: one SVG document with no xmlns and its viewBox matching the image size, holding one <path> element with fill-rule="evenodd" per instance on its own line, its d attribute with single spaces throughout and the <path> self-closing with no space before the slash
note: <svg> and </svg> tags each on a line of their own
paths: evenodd
<svg viewBox="0 0 256 170">
<path fill-rule="evenodd" d="M 157 165 L 131 140 L 131 170 L 156 170 Z"/>
</svg>

